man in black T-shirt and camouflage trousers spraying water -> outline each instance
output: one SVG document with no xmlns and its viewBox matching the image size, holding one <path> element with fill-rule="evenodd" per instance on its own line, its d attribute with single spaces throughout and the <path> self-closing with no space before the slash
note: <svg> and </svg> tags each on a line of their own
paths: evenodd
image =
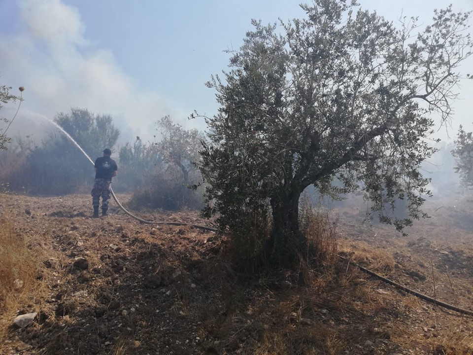
<svg viewBox="0 0 473 355">
<path fill-rule="evenodd" d="M 92 206 L 94 214 L 92 217 L 99 217 L 100 197 L 102 197 L 102 215 L 107 215 L 108 203 L 111 197 L 110 183 L 112 178 L 117 176 L 117 163 L 110 158 L 112 152 L 110 149 L 103 149 L 103 156 L 97 158 L 94 163 L 95 181 L 92 188 Z"/>
</svg>

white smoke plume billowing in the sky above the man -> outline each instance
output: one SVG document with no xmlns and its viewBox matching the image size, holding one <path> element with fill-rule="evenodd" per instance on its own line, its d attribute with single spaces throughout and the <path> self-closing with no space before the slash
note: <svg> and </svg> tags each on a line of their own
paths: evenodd
<svg viewBox="0 0 473 355">
<path fill-rule="evenodd" d="M 17 119 L 33 119 L 28 112 L 52 119 L 70 107 L 88 108 L 110 113 L 126 139 L 149 139 L 161 117 L 182 120 L 190 113 L 140 90 L 113 53 L 85 38 L 85 26 L 73 7 L 61 0 L 18 0 L 18 5 L 20 31 L 0 36 L 0 83 L 13 86 L 12 93 L 20 85 L 26 88 L 23 114 Z M 9 118 L 10 111 L 5 107 L 2 116 Z"/>
</svg>

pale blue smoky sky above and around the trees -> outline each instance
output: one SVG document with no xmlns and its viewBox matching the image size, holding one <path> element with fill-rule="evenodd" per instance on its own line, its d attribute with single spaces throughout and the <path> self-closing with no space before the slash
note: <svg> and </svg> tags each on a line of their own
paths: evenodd
<svg viewBox="0 0 473 355">
<path fill-rule="evenodd" d="M 452 0 L 450 0 L 452 1 Z M 388 20 L 401 14 L 428 23 L 448 0 L 359 0 Z M 24 102 L 12 128 L 38 135 L 70 107 L 109 113 L 122 142 L 151 140 L 165 115 L 184 128 L 205 130 L 197 110 L 211 116 L 218 105 L 205 87 L 228 69 L 230 54 L 252 29 L 251 19 L 273 23 L 304 17 L 292 0 L 0 0 L 0 85 L 24 86 Z M 472 11 L 473 0 L 454 10 Z M 473 20 L 472 20 L 473 23 Z M 473 73 L 473 58 L 462 71 Z M 459 124 L 473 130 L 473 83 L 464 82 L 449 137 Z M 2 110 L 11 118 L 16 106 Z M 13 127 L 15 126 L 15 127 Z M 31 131 L 31 132 L 29 132 Z M 13 132 L 15 132 L 13 130 Z"/>
</svg>

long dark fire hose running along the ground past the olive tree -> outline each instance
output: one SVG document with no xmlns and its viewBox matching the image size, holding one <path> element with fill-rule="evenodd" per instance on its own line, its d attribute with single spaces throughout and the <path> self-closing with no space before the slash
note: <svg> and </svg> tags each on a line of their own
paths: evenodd
<svg viewBox="0 0 473 355">
<path fill-rule="evenodd" d="M 110 191 L 111 191 L 111 194 L 112 194 L 112 197 L 113 199 L 115 200 L 115 202 L 117 203 L 117 205 L 120 207 L 120 209 L 125 212 L 126 214 L 128 214 L 130 217 L 133 217 L 135 218 L 136 220 L 140 221 L 141 223 L 147 223 L 147 224 L 170 224 L 170 225 L 178 225 L 178 226 L 182 226 L 182 225 L 186 225 L 186 226 L 192 226 L 194 228 L 198 228 L 198 229 L 203 229 L 203 230 L 206 230 L 206 231 L 210 231 L 210 232 L 217 232 L 218 230 L 215 229 L 215 228 L 210 228 L 210 227 L 205 227 L 205 226 L 201 226 L 201 225 L 197 225 L 197 224 L 190 224 L 190 223 L 179 223 L 179 222 L 152 222 L 152 221 L 147 221 L 145 219 L 141 219 L 135 215 L 133 215 L 132 213 L 128 212 L 125 207 L 122 206 L 122 204 L 118 201 L 117 197 L 115 196 L 115 193 L 113 192 L 113 190 L 110 188 Z M 386 279 L 385 277 L 381 276 L 381 275 L 378 275 L 376 274 L 375 272 L 371 271 L 371 270 L 368 270 L 367 268 L 357 264 L 357 263 L 354 263 L 353 261 L 350 261 L 348 260 L 346 257 L 344 256 L 341 256 L 340 254 L 338 254 L 338 257 L 343 260 L 343 261 L 347 261 L 348 263 L 351 263 L 353 264 L 354 266 L 356 266 L 358 269 L 360 269 L 361 271 L 363 271 L 364 273 L 366 274 L 369 274 L 373 277 L 375 277 L 376 279 L 378 280 L 381 280 L 383 282 L 385 282 L 386 284 L 391 284 L 393 286 L 395 286 L 397 289 L 400 289 L 406 293 L 409 293 L 409 294 L 412 294 L 418 298 L 421 298 L 427 302 L 430 302 L 430 303 L 433 303 L 437 306 L 440 306 L 440 307 L 443 307 L 443 308 L 446 308 L 446 309 L 449 309 L 451 311 L 455 311 L 455 312 L 458 312 L 458 313 L 461 313 L 461 314 L 464 314 L 464 315 L 468 315 L 468 316 L 473 316 L 473 311 L 469 311 L 469 310 L 466 310 L 466 309 L 463 309 L 463 308 L 460 308 L 460 307 L 456 307 L 456 306 L 453 306 L 451 304 L 448 304 L 448 303 L 445 303 L 445 302 L 442 302 L 442 301 L 439 301 L 435 298 L 432 298 L 432 297 L 429 297 L 423 293 L 419 293 L 417 291 L 414 291 L 410 288 L 407 288 L 401 284 L 398 284 L 392 280 L 389 280 L 389 279 Z"/>
</svg>

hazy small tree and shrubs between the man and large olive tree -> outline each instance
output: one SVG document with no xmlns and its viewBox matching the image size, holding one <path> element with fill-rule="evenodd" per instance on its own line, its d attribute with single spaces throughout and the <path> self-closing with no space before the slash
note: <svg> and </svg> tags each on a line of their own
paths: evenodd
<svg viewBox="0 0 473 355">
<path fill-rule="evenodd" d="M 187 186 L 201 179 L 195 163 L 200 159 L 203 134 L 197 129 L 183 129 L 169 116 L 157 121 L 156 126 L 161 132 L 160 142 L 143 144 L 138 139 L 134 146 L 127 144 L 120 149 L 120 163 L 126 170 L 124 179 L 135 177 L 131 206 L 202 208 L 202 195 Z"/>
</svg>

